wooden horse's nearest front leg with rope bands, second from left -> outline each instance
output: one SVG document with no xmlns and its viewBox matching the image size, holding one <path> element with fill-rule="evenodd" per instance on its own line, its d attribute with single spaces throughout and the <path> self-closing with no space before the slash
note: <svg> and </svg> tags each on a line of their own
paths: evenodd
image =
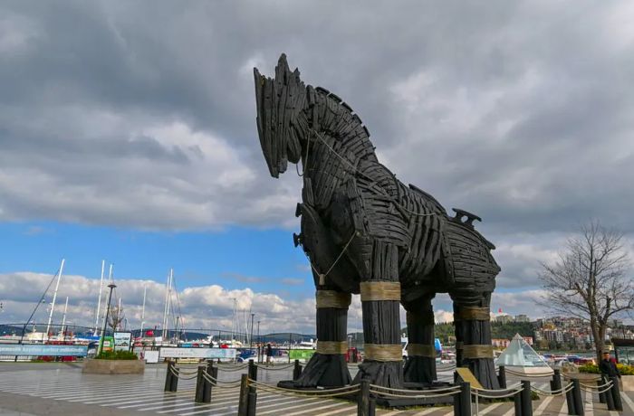
<svg viewBox="0 0 634 416">
<path fill-rule="evenodd" d="M 354 383 L 369 378 L 373 384 L 402 388 L 399 251 L 383 241 L 372 241 L 370 247 L 370 268 L 360 283 L 365 358 Z"/>
</svg>

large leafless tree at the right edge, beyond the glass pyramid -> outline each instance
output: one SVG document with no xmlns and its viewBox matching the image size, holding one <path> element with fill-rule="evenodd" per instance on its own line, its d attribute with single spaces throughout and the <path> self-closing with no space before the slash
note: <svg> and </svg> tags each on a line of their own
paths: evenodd
<svg viewBox="0 0 634 416">
<path fill-rule="evenodd" d="M 623 234 L 600 222 L 582 225 L 558 259 L 542 263 L 544 305 L 552 311 L 590 320 L 597 362 L 608 322 L 634 308 L 634 284 Z"/>
</svg>

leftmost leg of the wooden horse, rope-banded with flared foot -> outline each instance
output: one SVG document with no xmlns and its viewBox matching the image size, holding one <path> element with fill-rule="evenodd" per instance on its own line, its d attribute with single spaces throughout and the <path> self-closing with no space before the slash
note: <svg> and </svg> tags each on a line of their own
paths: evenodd
<svg viewBox="0 0 634 416">
<path fill-rule="evenodd" d="M 315 298 L 317 351 L 292 385 L 341 387 L 350 384 L 351 375 L 345 355 L 348 350 L 347 324 L 351 294 L 341 292 L 326 279 L 326 285 L 317 286 Z"/>
</svg>

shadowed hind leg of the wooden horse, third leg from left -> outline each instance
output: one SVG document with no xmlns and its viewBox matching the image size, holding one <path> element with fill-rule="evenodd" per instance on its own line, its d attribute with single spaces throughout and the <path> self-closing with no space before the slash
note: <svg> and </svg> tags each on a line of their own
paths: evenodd
<svg viewBox="0 0 634 416">
<path fill-rule="evenodd" d="M 436 347 L 434 345 L 434 310 L 426 294 L 404 303 L 408 320 L 408 359 L 403 369 L 409 383 L 433 383 L 436 378 Z"/>
</svg>

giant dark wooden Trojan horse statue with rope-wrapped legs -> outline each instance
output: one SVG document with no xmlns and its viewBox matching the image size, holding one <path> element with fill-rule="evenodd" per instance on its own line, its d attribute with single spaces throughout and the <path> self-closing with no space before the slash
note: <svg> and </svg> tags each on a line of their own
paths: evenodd
<svg viewBox="0 0 634 416">
<path fill-rule="evenodd" d="M 285 55 L 274 78 L 255 74 L 257 130 L 272 176 L 303 165 L 302 232 L 293 235 L 311 262 L 317 350 L 296 387 L 351 383 L 345 361 L 351 294 L 361 297 L 365 359 L 355 381 L 402 388 L 436 379 L 431 300 L 454 304 L 457 365 L 485 388 L 495 377 L 489 306 L 500 268 L 495 246 L 474 229 L 476 215 L 443 206 L 381 165 L 370 133 L 334 93 L 304 85 Z M 299 167 L 297 167 L 299 174 Z M 407 311 L 403 364 L 399 304 Z"/>
</svg>

